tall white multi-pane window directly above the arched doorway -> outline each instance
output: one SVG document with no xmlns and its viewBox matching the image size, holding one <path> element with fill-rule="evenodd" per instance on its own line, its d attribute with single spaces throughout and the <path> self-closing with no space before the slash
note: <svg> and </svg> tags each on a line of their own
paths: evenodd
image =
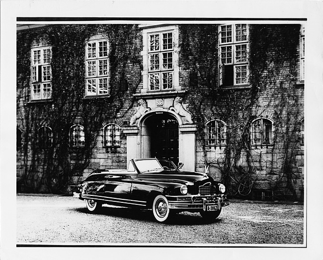
<svg viewBox="0 0 323 260">
<path fill-rule="evenodd" d="M 150 91 L 174 88 L 173 31 L 148 34 L 148 89 Z"/>
</svg>

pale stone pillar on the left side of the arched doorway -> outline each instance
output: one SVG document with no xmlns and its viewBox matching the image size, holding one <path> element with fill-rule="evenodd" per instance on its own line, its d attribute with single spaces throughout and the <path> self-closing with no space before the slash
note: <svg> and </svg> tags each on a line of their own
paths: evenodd
<svg viewBox="0 0 323 260">
<path fill-rule="evenodd" d="M 125 127 L 122 129 L 127 137 L 127 165 L 129 160 L 139 158 L 139 128 L 137 126 Z"/>
</svg>

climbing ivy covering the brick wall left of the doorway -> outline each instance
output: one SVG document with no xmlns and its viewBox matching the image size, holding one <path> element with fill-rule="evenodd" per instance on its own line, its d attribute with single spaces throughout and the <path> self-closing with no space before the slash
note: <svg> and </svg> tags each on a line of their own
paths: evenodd
<svg viewBox="0 0 323 260">
<path fill-rule="evenodd" d="M 102 31 L 107 32 L 110 43 L 110 95 L 84 98 L 85 41 Z M 53 53 L 53 90 L 48 102 L 30 102 L 30 49 L 39 37 L 47 40 Z M 141 44 L 134 25 L 52 25 L 17 33 L 17 120 L 24 122 L 25 144 L 24 173 L 17 186 L 62 193 L 72 176 L 81 175 L 90 163 L 103 120 L 122 117 L 134 102 L 132 93 L 141 83 Z M 128 90 L 120 89 L 120 80 L 128 81 Z M 83 148 L 69 145 L 70 127 L 75 123 L 85 130 Z M 54 133 L 52 146 L 44 150 L 36 142 L 41 124 Z"/>
</svg>

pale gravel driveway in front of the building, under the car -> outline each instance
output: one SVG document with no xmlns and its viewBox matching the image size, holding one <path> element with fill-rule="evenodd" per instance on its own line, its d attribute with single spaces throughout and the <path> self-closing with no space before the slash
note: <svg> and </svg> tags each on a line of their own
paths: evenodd
<svg viewBox="0 0 323 260">
<path fill-rule="evenodd" d="M 303 205 L 242 203 L 223 208 L 215 223 L 198 213 L 180 213 L 157 223 L 150 210 L 104 205 L 88 214 L 85 203 L 62 196 L 17 195 L 17 244 L 150 243 L 295 245 L 304 241 Z M 188 245 L 189 246 L 189 245 Z"/>
</svg>

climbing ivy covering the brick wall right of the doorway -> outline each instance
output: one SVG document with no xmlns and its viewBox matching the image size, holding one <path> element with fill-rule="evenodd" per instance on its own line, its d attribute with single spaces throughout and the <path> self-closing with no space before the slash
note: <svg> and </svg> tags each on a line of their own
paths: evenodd
<svg viewBox="0 0 323 260">
<path fill-rule="evenodd" d="M 198 86 L 186 87 L 205 166 L 221 173 L 231 195 L 249 195 L 262 170 L 257 150 L 250 146 L 251 122 L 270 114 L 275 132 L 266 150 L 279 158 L 266 166 L 266 173 L 276 175 L 270 188 L 283 185 L 287 192 L 282 197 L 297 198 L 295 184 L 300 177 L 295 173 L 295 157 L 303 111 L 303 90 L 296 87 L 300 25 L 250 25 L 250 88 L 242 90 L 218 87 L 217 25 L 181 25 L 180 35 L 183 68 L 198 75 Z M 210 157 L 205 140 L 205 124 L 213 118 L 228 125 L 221 159 Z"/>
</svg>

